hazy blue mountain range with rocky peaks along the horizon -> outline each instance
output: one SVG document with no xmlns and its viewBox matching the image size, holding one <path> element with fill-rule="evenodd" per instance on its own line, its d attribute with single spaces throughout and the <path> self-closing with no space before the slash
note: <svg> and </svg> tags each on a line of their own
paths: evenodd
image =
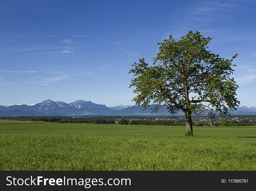
<svg viewBox="0 0 256 191">
<path fill-rule="evenodd" d="M 0 106 L 0 116 L 88 116 L 88 115 L 136 115 L 136 116 L 168 116 L 171 115 L 166 108 L 161 109 L 157 113 L 151 113 L 150 108 L 154 108 L 155 104 L 150 105 L 145 110 L 142 106 L 125 105 L 107 107 L 106 105 L 96 104 L 91 101 L 77 100 L 71 103 L 63 101 L 52 101 L 47 99 L 36 104 L 9 104 Z M 182 111 L 178 111 L 176 116 L 183 116 Z M 206 114 L 207 115 L 207 114 Z M 238 107 L 237 111 L 231 112 L 231 115 L 256 115 L 256 107 Z"/>
</svg>

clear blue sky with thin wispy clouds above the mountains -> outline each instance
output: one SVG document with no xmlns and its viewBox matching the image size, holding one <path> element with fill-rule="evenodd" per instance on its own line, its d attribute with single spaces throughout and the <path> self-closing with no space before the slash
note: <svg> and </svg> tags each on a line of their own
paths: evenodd
<svg viewBox="0 0 256 191">
<path fill-rule="evenodd" d="M 0 105 L 90 100 L 133 105 L 131 64 L 200 31 L 239 55 L 240 106 L 256 106 L 255 1 L 0 1 Z"/>
</svg>

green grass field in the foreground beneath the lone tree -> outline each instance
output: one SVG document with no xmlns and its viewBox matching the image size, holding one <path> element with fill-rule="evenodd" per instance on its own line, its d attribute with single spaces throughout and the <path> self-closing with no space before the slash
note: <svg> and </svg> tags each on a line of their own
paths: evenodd
<svg viewBox="0 0 256 191">
<path fill-rule="evenodd" d="M 256 170 L 256 127 L 0 124 L 0 170 Z"/>
</svg>

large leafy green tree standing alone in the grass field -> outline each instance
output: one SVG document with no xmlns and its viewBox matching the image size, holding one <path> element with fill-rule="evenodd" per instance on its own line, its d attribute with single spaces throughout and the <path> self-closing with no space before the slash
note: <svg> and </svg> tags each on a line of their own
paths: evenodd
<svg viewBox="0 0 256 191">
<path fill-rule="evenodd" d="M 167 106 L 171 114 L 182 110 L 185 114 L 186 134 L 193 135 L 191 114 L 200 115 L 208 111 L 214 117 L 214 110 L 220 117 L 230 115 L 240 102 L 235 98 L 238 85 L 233 74 L 232 59 L 220 58 L 208 50 L 211 38 L 204 38 L 196 31 L 175 41 L 170 35 L 159 45 L 159 53 L 148 66 L 144 58 L 134 63 L 129 73 L 134 73 L 130 87 L 135 86 L 137 94 L 132 101 L 143 105 L 157 104 L 152 112 Z"/>
</svg>

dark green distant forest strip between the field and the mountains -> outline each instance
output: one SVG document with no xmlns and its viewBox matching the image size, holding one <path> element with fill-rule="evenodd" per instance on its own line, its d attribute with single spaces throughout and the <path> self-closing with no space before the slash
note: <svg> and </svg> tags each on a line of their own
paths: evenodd
<svg viewBox="0 0 256 191">
<path fill-rule="evenodd" d="M 0 117 L 0 119 L 12 119 L 12 120 L 31 120 L 31 121 L 43 121 L 43 122 L 55 122 L 55 123 L 92 123 L 92 124 L 115 124 L 120 119 L 126 119 L 128 125 L 170 125 L 170 126 L 184 126 L 184 117 L 141 117 L 141 116 L 89 116 L 89 117 Z M 193 119 L 197 119 L 193 117 Z M 209 119 L 209 117 L 201 117 L 200 119 L 206 119 L 206 121 L 197 120 L 193 122 L 194 126 L 211 126 L 211 122 L 214 122 L 214 126 L 256 126 L 256 116 L 250 115 L 237 115 L 229 116 L 227 120 L 220 121 L 219 118 Z M 195 120 L 196 121 L 196 120 Z"/>
</svg>

